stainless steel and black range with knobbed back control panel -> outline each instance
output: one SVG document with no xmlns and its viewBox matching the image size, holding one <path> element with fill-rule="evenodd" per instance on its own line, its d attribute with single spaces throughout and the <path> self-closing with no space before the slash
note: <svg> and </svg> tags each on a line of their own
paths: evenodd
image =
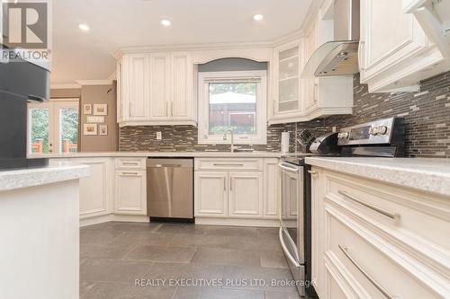
<svg viewBox="0 0 450 299">
<path fill-rule="evenodd" d="M 380 119 L 322 135 L 311 144 L 314 155 L 398 157 L 404 154 L 401 118 Z M 280 242 L 300 295 L 316 297 L 311 284 L 311 166 L 308 154 L 293 154 L 278 165 L 282 180 Z"/>
</svg>

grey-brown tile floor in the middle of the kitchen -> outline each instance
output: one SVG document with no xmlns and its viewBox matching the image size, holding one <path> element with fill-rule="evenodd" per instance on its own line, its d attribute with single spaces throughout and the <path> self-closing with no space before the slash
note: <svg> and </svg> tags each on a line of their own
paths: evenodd
<svg viewBox="0 0 450 299">
<path fill-rule="evenodd" d="M 271 284 L 293 279 L 277 233 L 193 224 L 87 226 L 80 232 L 80 298 L 298 298 L 293 286 Z M 203 286 L 185 286 L 192 283 Z"/>
</svg>

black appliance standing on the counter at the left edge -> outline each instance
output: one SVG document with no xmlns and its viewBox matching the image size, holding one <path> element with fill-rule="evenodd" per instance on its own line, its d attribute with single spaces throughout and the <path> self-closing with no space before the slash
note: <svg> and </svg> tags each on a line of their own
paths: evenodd
<svg viewBox="0 0 450 299">
<path fill-rule="evenodd" d="M 48 164 L 27 159 L 27 103 L 48 99 L 47 69 L 27 61 L 0 62 L 0 170 Z"/>
</svg>

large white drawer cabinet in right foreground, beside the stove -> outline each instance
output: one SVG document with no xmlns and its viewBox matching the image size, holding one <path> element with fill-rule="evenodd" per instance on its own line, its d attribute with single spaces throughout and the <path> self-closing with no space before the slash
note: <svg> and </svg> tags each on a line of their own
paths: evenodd
<svg viewBox="0 0 450 299">
<path fill-rule="evenodd" d="M 450 297 L 448 198 L 312 171 L 311 267 L 321 299 Z"/>
</svg>

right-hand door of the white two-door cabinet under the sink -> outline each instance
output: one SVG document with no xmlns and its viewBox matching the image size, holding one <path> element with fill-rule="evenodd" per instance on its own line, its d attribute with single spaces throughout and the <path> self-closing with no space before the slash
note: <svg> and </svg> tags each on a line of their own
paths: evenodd
<svg viewBox="0 0 450 299">
<path fill-rule="evenodd" d="M 263 214 L 263 174 L 229 172 L 229 217 Z"/>
</svg>

